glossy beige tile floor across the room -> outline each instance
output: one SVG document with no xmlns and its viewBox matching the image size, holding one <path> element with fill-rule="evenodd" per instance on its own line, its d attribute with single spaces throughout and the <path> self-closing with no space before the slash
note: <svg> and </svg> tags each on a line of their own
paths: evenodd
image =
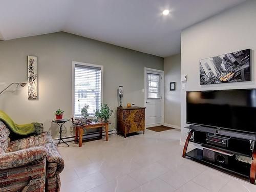
<svg viewBox="0 0 256 192">
<path fill-rule="evenodd" d="M 256 185 L 181 157 L 180 131 L 60 144 L 61 192 L 255 192 Z"/>
</svg>

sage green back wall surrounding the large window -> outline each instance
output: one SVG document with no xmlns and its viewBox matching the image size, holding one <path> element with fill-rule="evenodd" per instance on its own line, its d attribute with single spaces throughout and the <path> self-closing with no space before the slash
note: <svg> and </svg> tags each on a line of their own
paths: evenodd
<svg viewBox="0 0 256 192">
<path fill-rule="evenodd" d="M 123 103 L 144 105 L 144 67 L 163 70 L 163 58 L 81 36 L 57 32 L 46 35 L 0 41 L 0 90 L 11 82 L 27 80 L 27 55 L 37 56 L 38 100 L 28 100 L 28 87 L 0 95 L 0 109 L 17 123 L 43 122 L 45 131 L 58 137 L 51 123 L 54 111 L 61 108 L 71 118 L 72 61 L 104 66 L 103 102 L 115 110 L 117 89 L 124 88 Z M 111 117 L 116 127 L 116 113 Z M 63 136 L 74 135 L 71 123 Z"/>
</svg>

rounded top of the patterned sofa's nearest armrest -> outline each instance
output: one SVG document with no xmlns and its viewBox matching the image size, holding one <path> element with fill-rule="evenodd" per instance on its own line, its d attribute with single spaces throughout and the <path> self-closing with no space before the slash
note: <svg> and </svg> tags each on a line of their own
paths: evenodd
<svg viewBox="0 0 256 192">
<path fill-rule="evenodd" d="M 0 170 L 24 166 L 45 159 L 47 154 L 47 148 L 38 146 L 0 155 Z"/>
</svg>

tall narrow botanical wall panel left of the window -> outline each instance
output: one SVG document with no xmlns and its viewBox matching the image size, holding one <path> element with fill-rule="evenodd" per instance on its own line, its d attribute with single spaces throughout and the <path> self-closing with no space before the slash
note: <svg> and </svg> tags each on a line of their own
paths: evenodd
<svg viewBox="0 0 256 192">
<path fill-rule="evenodd" d="M 28 56 L 28 99 L 37 99 L 37 57 Z"/>
</svg>

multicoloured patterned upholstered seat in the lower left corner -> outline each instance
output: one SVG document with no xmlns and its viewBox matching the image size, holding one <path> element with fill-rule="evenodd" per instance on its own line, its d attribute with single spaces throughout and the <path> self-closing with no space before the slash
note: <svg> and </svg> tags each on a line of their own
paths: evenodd
<svg viewBox="0 0 256 192">
<path fill-rule="evenodd" d="M 10 141 L 0 121 L 0 191 L 60 190 L 64 161 L 49 132 Z"/>
</svg>

